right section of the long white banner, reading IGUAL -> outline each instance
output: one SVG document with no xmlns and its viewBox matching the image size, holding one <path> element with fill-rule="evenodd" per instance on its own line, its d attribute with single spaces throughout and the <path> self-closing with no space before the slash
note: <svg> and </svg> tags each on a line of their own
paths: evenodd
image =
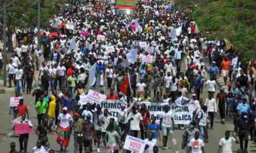
<svg viewBox="0 0 256 153">
<path fill-rule="evenodd" d="M 170 111 L 174 116 L 175 124 L 185 124 L 188 125 L 192 121 L 193 117 L 193 104 L 185 104 L 185 105 L 176 105 L 176 104 L 168 104 L 168 103 L 150 103 L 150 102 L 142 102 L 137 103 L 137 109 L 139 109 L 139 105 L 146 104 L 148 111 L 150 111 L 151 120 L 154 116 L 156 116 L 156 123 L 160 122 L 160 115 L 164 112 L 163 108 L 165 105 L 170 106 Z"/>
</svg>

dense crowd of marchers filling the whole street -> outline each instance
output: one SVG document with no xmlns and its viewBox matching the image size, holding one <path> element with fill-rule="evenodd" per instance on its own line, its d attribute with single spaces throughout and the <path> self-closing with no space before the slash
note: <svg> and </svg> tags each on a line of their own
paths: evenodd
<svg viewBox="0 0 256 153">
<path fill-rule="evenodd" d="M 82 150 L 101 152 L 101 143 L 108 152 L 118 152 L 127 135 L 139 137 L 140 133 L 139 138 L 146 142 L 144 152 L 156 153 L 157 140 L 162 141 L 162 149 L 166 150 L 168 137 L 175 129 L 184 130 L 182 149 L 205 152 L 204 143 L 209 141 L 208 130 L 213 129 L 217 112 L 221 124 L 225 124 L 228 115 L 234 120 L 233 137 L 226 131 L 218 144 L 219 152 L 232 152 L 233 142 L 240 143 L 241 152 L 247 152 L 249 135 L 256 142 L 254 63 L 243 65 L 233 48 L 226 48 L 224 40 L 201 36 L 190 16 L 175 10 L 174 2 L 138 1 L 131 16 L 117 15 L 114 3 L 72 1 L 71 6 L 53 19 L 61 32 L 52 36 L 51 31 L 43 30 L 40 48 L 31 35 L 29 39 L 27 35 L 17 37 L 14 54 L 9 59 L 9 87 L 14 82 L 16 97 L 24 92 L 35 96 L 38 142 L 32 152 L 54 152 L 47 134 L 55 131 L 61 152 L 67 151 L 71 134 L 74 152 L 81 153 Z M 176 33 L 172 35 L 174 29 Z M 98 35 L 105 39 L 98 40 Z M 147 47 L 139 42 L 146 42 Z M 109 52 L 108 46 L 114 46 L 114 52 Z M 126 56 L 132 50 L 137 50 L 134 62 Z M 143 62 L 144 56 L 150 56 L 151 62 Z M 209 60 L 209 67 L 205 66 L 205 59 Z M 126 61 L 129 66 L 124 64 Z M 181 63 L 185 68 L 181 69 Z M 89 71 L 94 64 L 96 82 L 90 86 Z M 126 77 L 129 87 L 123 93 L 119 87 Z M 217 79 L 221 77 L 228 89 L 221 87 L 218 92 Z M 33 82 L 38 84 L 34 91 Z M 80 97 L 89 88 L 100 88 L 101 94 L 110 91 L 108 100 L 125 101 L 117 120 L 100 105 L 81 103 Z M 206 99 L 201 96 L 204 89 L 208 92 Z M 170 106 L 165 105 L 160 123 L 156 124 L 156 116 L 151 117 L 146 105 L 137 109 L 136 104 L 141 101 L 190 103 L 194 108 L 193 118 L 186 129 L 184 125 L 175 125 Z M 13 123 L 33 127 L 23 99 L 19 99 L 17 107 L 10 108 L 10 114 Z M 28 151 L 28 135 L 19 135 L 19 152 Z M 174 146 L 175 143 L 172 139 Z M 11 143 L 10 152 L 18 152 L 15 143 Z"/>
</svg>

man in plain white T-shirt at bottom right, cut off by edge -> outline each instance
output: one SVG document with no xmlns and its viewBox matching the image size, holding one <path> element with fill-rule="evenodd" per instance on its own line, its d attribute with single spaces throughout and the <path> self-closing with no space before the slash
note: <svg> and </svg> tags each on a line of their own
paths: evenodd
<svg viewBox="0 0 256 153">
<path fill-rule="evenodd" d="M 236 137 L 230 137 L 230 131 L 225 132 L 225 138 L 221 138 L 218 142 L 218 152 L 220 153 L 232 153 L 233 143 L 239 143 Z"/>
</svg>

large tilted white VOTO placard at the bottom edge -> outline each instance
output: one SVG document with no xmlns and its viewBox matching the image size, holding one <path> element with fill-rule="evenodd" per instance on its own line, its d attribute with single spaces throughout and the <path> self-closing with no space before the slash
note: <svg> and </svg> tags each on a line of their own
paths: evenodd
<svg viewBox="0 0 256 153">
<path fill-rule="evenodd" d="M 146 143 L 144 140 L 127 135 L 123 148 L 126 150 L 134 151 L 136 153 L 143 153 L 145 145 Z"/>
</svg>

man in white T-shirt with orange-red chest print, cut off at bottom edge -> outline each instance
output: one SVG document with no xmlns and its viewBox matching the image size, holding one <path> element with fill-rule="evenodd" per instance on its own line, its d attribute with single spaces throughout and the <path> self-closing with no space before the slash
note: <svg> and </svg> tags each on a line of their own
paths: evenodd
<svg viewBox="0 0 256 153">
<path fill-rule="evenodd" d="M 199 138 L 199 135 L 199 131 L 196 131 L 195 138 L 192 138 L 188 143 L 189 151 L 191 153 L 205 153 L 204 142 L 202 139 Z M 187 153 L 189 153 L 189 151 L 187 151 Z"/>
</svg>

